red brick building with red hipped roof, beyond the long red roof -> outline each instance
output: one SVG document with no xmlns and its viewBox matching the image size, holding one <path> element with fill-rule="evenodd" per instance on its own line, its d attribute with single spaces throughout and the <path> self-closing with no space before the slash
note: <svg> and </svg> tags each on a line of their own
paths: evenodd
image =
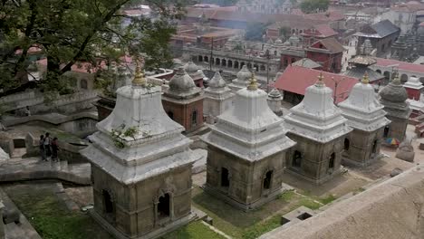
<svg viewBox="0 0 424 239">
<path fill-rule="evenodd" d="M 323 66 L 324 72 L 342 71 L 342 57 L 345 51 L 341 43 L 334 38 L 326 38 L 307 47 L 306 57 Z"/>
</svg>

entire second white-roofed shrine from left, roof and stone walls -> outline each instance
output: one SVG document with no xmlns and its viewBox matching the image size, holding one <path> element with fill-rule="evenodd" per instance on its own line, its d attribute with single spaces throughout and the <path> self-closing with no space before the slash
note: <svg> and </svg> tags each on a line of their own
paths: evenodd
<svg viewBox="0 0 424 239">
<path fill-rule="evenodd" d="M 207 192 L 243 210 L 280 194 L 285 154 L 295 144 L 285 136 L 283 119 L 269 109 L 266 96 L 252 79 L 201 138 L 208 151 Z"/>
</svg>

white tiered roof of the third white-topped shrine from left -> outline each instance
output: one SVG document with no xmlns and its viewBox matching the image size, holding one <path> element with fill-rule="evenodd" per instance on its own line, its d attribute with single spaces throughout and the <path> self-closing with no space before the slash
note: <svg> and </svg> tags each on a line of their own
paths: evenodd
<svg viewBox="0 0 424 239">
<path fill-rule="evenodd" d="M 323 74 L 306 88 L 304 100 L 285 117 L 285 127 L 290 133 L 320 143 L 330 142 L 352 131 L 347 119 L 342 117 L 332 100 L 332 89 L 325 86 Z"/>
</svg>

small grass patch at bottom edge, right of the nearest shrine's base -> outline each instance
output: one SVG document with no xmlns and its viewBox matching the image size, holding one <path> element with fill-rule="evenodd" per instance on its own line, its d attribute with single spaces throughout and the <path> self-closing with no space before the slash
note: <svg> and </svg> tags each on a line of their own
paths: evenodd
<svg viewBox="0 0 424 239">
<path fill-rule="evenodd" d="M 194 222 L 161 237 L 162 239 L 224 239 L 225 237 L 210 230 L 201 222 Z"/>
</svg>

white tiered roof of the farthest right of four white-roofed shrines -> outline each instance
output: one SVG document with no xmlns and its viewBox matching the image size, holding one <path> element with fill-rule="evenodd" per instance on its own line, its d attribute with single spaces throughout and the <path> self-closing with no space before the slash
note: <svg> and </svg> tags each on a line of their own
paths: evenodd
<svg viewBox="0 0 424 239">
<path fill-rule="evenodd" d="M 385 117 L 384 106 L 377 100 L 377 94 L 369 83 L 367 74 L 353 87 L 349 98 L 342 101 L 339 108 L 353 129 L 371 132 L 390 123 Z"/>
</svg>

